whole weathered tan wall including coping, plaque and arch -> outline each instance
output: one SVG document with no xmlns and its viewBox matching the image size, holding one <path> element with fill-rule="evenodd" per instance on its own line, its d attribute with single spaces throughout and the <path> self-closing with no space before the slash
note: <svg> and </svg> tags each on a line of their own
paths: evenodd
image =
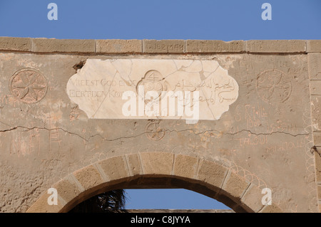
<svg viewBox="0 0 321 227">
<path fill-rule="evenodd" d="M 321 41 L 1 37 L 0 51 L 1 212 L 66 212 L 134 188 L 321 211 Z M 200 91 L 200 120 L 121 115 L 143 83 Z"/>
</svg>

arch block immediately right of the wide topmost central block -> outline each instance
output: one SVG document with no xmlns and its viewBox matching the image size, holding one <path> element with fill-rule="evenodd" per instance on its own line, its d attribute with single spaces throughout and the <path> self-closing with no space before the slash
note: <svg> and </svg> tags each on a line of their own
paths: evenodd
<svg viewBox="0 0 321 227">
<path fill-rule="evenodd" d="M 198 170 L 198 158 L 183 154 L 175 155 L 173 174 L 194 179 Z"/>
</svg>

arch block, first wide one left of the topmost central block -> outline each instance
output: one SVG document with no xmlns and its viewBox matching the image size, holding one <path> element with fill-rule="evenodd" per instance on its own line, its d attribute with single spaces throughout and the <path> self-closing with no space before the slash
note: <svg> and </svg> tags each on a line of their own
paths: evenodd
<svg viewBox="0 0 321 227">
<path fill-rule="evenodd" d="M 126 164 L 126 157 L 118 156 L 110 159 L 105 159 L 98 162 L 107 176 L 108 181 L 116 179 L 123 179 L 129 176 L 128 167 Z"/>
</svg>

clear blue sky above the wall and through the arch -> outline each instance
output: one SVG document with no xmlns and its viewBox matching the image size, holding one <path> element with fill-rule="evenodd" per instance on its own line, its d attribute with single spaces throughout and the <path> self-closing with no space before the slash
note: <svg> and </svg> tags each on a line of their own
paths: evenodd
<svg viewBox="0 0 321 227">
<path fill-rule="evenodd" d="M 58 5 L 57 21 L 47 18 L 51 2 Z M 265 2 L 271 21 L 261 18 Z M 0 0 L 0 36 L 321 39 L 321 0 Z M 126 208 L 227 208 L 185 189 L 127 192 Z"/>
</svg>

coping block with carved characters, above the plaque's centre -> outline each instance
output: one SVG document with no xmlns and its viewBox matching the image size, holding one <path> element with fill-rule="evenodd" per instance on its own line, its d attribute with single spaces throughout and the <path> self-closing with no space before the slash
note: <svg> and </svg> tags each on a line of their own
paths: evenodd
<svg viewBox="0 0 321 227">
<path fill-rule="evenodd" d="M 143 40 L 143 53 L 184 53 L 183 40 Z"/>
</svg>

